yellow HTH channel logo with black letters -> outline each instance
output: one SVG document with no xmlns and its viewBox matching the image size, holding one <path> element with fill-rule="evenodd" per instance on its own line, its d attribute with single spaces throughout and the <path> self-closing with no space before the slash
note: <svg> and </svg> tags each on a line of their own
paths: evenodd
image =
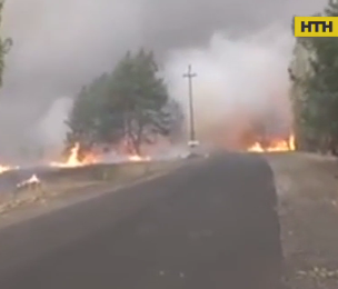
<svg viewBox="0 0 338 289">
<path fill-rule="evenodd" d="M 338 17 L 295 17 L 295 37 L 338 37 Z"/>
</svg>

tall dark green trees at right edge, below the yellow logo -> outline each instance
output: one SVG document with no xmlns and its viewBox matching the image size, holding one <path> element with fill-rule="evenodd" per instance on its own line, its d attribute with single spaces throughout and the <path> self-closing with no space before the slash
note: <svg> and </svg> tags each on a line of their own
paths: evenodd
<svg viewBox="0 0 338 289">
<path fill-rule="evenodd" d="M 338 4 L 329 0 L 322 13 L 338 16 Z M 307 51 L 309 69 L 305 74 L 291 73 L 301 93 L 294 99 L 305 138 L 321 150 L 337 153 L 338 147 L 338 39 L 304 38 L 297 44 Z"/>
</svg>

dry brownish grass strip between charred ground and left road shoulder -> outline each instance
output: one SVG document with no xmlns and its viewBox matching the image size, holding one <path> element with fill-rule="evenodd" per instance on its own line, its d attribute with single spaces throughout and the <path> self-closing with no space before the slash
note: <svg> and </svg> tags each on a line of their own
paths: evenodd
<svg viewBox="0 0 338 289">
<path fill-rule="evenodd" d="M 41 186 L 26 188 L 18 193 L 2 192 L 0 216 L 14 210 L 47 205 L 62 196 L 95 193 L 107 188 L 157 175 L 180 166 L 179 161 L 98 165 L 86 168 L 61 169 L 42 176 Z"/>
</svg>

